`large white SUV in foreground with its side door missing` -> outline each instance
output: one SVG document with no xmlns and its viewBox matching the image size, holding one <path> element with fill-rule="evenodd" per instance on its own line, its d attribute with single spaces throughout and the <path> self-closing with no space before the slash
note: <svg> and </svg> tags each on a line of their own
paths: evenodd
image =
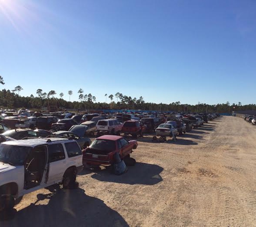
<svg viewBox="0 0 256 227">
<path fill-rule="evenodd" d="M 75 185 L 82 170 L 82 152 L 75 140 L 40 138 L 0 144 L 0 211 L 12 209 L 22 198 L 41 188 Z"/>
</svg>

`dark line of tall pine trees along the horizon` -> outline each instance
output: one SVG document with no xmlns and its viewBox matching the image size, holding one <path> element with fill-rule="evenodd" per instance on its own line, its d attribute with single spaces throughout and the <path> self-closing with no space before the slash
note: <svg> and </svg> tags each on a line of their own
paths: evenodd
<svg viewBox="0 0 256 227">
<path fill-rule="evenodd" d="M 0 76 L 0 83 L 5 84 L 3 77 Z M 181 104 L 181 102 L 172 102 L 169 104 L 165 103 L 149 103 L 144 102 L 143 97 L 132 98 L 131 96 L 123 95 L 122 93 L 116 93 L 115 95 L 105 94 L 106 102 L 96 102 L 96 97 L 90 94 L 84 94 L 83 89 L 78 90 L 78 101 L 70 102 L 70 97 L 73 95 L 73 91 L 69 90 L 69 101 L 63 99 L 64 93 L 59 94 L 59 98 L 56 97 L 57 93 L 54 90 L 50 90 L 48 93 L 42 89 L 37 89 L 34 96 L 24 97 L 20 96 L 19 92 L 23 88 L 16 86 L 13 90 L 0 90 L 0 108 L 8 109 L 38 109 L 41 107 L 47 107 L 50 105 L 63 107 L 65 109 L 76 109 L 76 110 L 96 110 L 96 109 L 132 109 L 132 110 L 155 110 L 155 111 L 179 111 L 179 112 L 219 112 L 219 113 L 231 113 L 233 110 L 256 110 L 255 104 L 242 105 L 241 102 L 238 104 L 229 102 L 218 103 L 215 105 L 209 105 L 206 103 L 200 103 L 196 105 Z M 18 93 L 18 94 L 17 94 Z M 107 102 L 109 98 L 109 103 Z"/>
</svg>

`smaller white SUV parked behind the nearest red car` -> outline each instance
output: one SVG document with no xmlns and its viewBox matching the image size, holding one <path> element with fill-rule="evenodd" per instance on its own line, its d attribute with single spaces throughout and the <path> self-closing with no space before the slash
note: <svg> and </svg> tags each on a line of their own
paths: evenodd
<svg viewBox="0 0 256 227">
<path fill-rule="evenodd" d="M 99 120 L 96 124 L 96 132 L 99 133 L 111 133 L 120 135 L 123 124 L 115 119 Z"/>
</svg>

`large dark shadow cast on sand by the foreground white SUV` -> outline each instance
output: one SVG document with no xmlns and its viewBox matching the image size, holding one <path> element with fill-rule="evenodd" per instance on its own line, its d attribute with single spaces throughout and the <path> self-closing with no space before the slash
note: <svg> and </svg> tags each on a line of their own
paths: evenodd
<svg viewBox="0 0 256 227">
<path fill-rule="evenodd" d="M 81 188 L 38 194 L 37 198 L 1 226 L 129 226 L 119 213 Z M 41 200 L 49 202 L 37 204 Z"/>
</svg>

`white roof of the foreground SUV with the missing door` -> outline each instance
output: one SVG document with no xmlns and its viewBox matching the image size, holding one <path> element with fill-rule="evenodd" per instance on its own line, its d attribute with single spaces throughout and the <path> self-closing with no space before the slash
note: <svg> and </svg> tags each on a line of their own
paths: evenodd
<svg viewBox="0 0 256 227">
<path fill-rule="evenodd" d="M 16 146 L 26 146 L 26 147 L 35 147 L 38 145 L 46 145 L 50 141 L 61 141 L 61 140 L 68 140 L 66 138 L 38 138 L 38 139 L 22 139 L 22 140 L 12 140 L 6 141 L 2 144 L 9 144 L 9 145 L 16 145 Z M 48 141 L 48 142 L 47 142 Z"/>
</svg>

